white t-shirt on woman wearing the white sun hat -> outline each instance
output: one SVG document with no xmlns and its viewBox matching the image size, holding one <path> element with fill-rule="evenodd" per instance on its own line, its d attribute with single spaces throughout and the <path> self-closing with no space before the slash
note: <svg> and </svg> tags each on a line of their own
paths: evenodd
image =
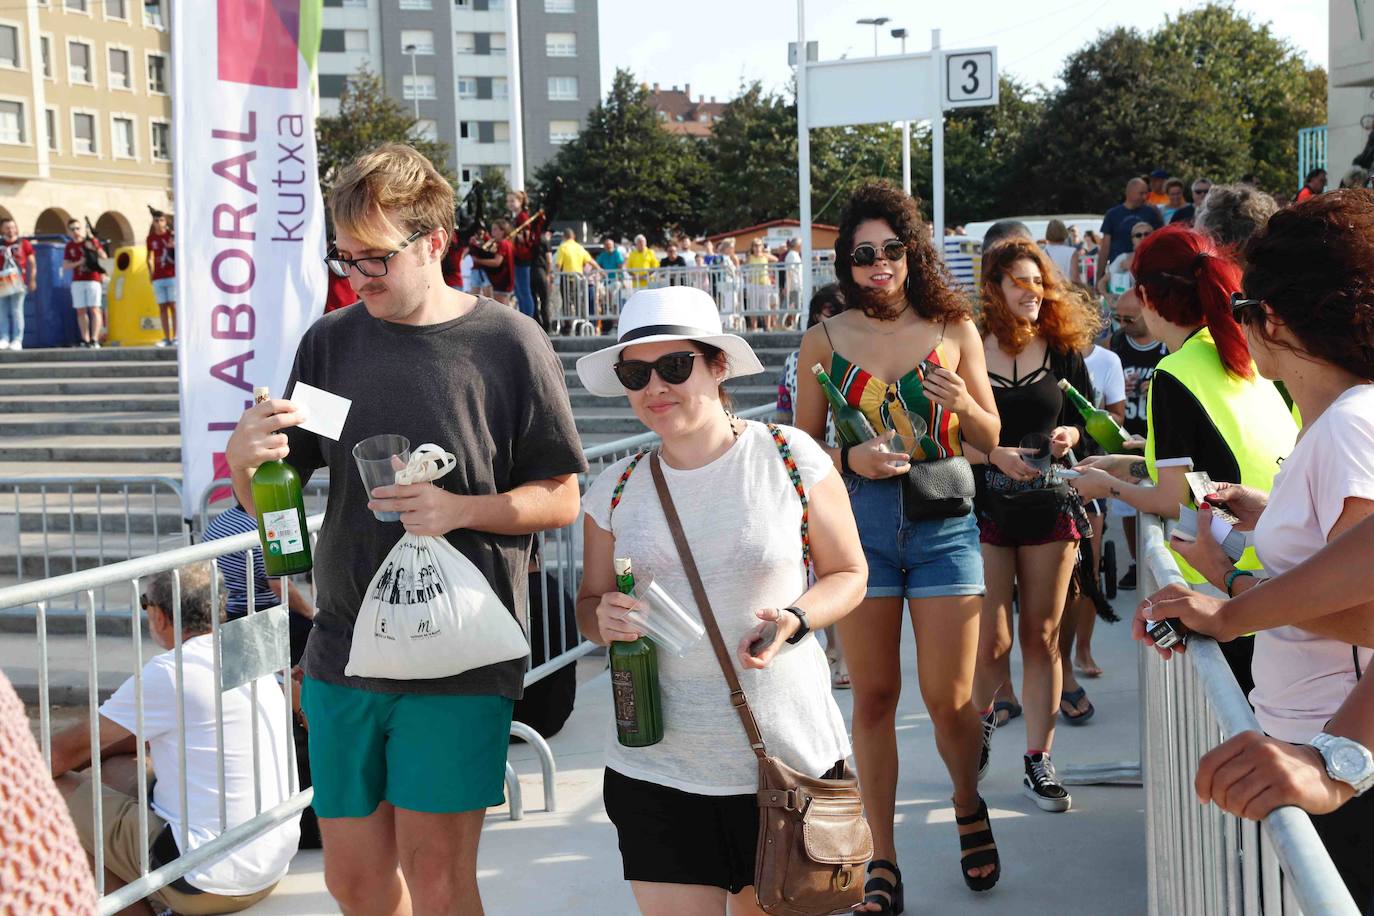
<svg viewBox="0 0 1374 916">
<path fill-rule="evenodd" d="M 790 426 L 780 428 L 808 492 L 835 472 L 811 437 Z M 632 560 L 636 580 L 651 575 L 699 617 L 664 522 L 649 460 L 646 456 L 635 468 L 614 512 L 611 490 L 629 459 L 602 471 L 583 505 L 592 522 L 616 536 L 616 556 Z M 677 471 L 664 463 L 664 478 L 734 658 L 739 640 L 758 623 L 754 611 L 787 607 L 807 591 L 801 500 L 761 423 L 749 423 L 730 450 L 705 467 Z M 738 659 L 735 667 L 739 670 Z M 664 740 L 624 747 L 611 735 L 606 765 L 631 779 L 698 795 L 756 792 L 757 758 L 730 705 L 710 639 L 702 637 L 686 658 L 660 652 L 658 683 Z M 763 670 L 739 670 L 739 683 L 769 754 L 813 776 L 848 757 L 849 736 L 830 695 L 830 669 L 815 636 L 783 645 Z M 614 731 L 609 720 L 607 726 Z"/>
</svg>

